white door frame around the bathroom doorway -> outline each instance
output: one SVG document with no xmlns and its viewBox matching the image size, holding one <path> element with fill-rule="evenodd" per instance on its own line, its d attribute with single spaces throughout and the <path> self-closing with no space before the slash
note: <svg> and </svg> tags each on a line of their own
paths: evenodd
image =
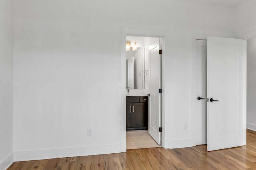
<svg viewBox="0 0 256 170">
<path fill-rule="evenodd" d="M 168 138 L 168 129 L 165 123 L 165 64 L 164 60 L 166 56 L 170 56 L 170 32 L 164 30 L 151 30 L 151 29 L 132 29 L 132 28 L 122 28 L 121 29 L 121 152 L 126 152 L 126 36 L 138 36 L 138 37 L 156 37 L 162 38 L 162 104 L 161 104 L 161 122 L 162 122 L 162 134 L 161 141 L 162 147 L 166 148 L 165 140 Z"/>
</svg>

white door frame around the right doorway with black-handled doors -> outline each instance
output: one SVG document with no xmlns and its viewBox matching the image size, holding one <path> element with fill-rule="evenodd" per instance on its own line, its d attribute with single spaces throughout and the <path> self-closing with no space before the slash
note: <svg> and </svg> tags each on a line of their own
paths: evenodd
<svg viewBox="0 0 256 170">
<path fill-rule="evenodd" d="M 192 76 L 192 81 L 191 81 L 191 88 L 192 88 L 192 94 L 191 94 L 191 106 L 192 106 L 192 141 L 194 143 L 194 146 L 196 146 L 196 124 L 198 123 L 198 119 L 196 119 L 196 40 L 202 39 L 202 40 L 207 40 L 206 34 L 194 34 L 192 35 L 192 66 L 191 66 L 191 76 Z M 214 35 L 215 36 L 215 35 Z M 218 36 L 220 37 L 220 36 Z M 243 52 L 243 145 L 246 145 L 246 63 L 247 63 L 247 56 L 246 56 L 246 42 L 247 40 L 243 41 L 243 46 L 244 46 L 244 52 Z"/>
</svg>

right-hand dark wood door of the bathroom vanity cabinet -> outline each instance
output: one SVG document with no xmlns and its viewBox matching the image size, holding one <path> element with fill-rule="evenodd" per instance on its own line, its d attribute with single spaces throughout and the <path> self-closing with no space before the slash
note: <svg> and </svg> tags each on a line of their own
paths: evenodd
<svg viewBox="0 0 256 170">
<path fill-rule="evenodd" d="M 132 104 L 132 127 L 146 127 L 148 124 L 148 104 Z"/>
</svg>

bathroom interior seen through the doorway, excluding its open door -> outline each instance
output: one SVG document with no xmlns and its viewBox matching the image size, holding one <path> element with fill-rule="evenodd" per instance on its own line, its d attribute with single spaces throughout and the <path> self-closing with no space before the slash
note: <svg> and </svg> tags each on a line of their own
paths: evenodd
<svg viewBox="0 0 256 170">
<path fill-rule="evenodd" d="M 160 41 L 156 37 L 126 36 L 126 149 L 161 146 L 148 131 L 150 104 L 158 105 L 150 102 L 150 82 L 159 79 L 150 72 L 150 68 L 154 70 L 152 64 L 157 64 L 150 50 L 157 47 L 158 51 Z"/>
</svg>

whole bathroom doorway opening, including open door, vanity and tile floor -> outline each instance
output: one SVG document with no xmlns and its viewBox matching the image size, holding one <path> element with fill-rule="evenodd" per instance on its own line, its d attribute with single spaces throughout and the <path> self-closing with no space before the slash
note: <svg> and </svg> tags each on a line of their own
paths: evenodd
<svg viewBox="0 0 256 170">
<path fill-rule="evenodd" d="M 161 146 L 162 39 L 126 36 L 126 149 Z"/>
</svg>

